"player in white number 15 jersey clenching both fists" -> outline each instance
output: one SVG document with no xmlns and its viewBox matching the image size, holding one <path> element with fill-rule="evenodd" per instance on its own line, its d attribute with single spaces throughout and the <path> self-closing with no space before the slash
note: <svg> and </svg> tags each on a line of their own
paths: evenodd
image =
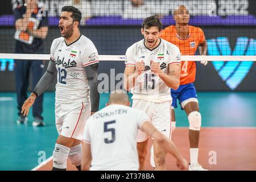
<svg viewBox="0 0 256 182">
<path fill-rule="evenodd" d="M 141 31 L 144 39 L 126 51 L 125 89 L 133 93 L 133 107 L 144 110 L 156 129 L 171 138 L 170 88 L 179 87 L 180 51 L 174 44 L 159 38 L 162 22 L 156 16 L 144 19 Z M 139 130 L 140 169 L 144 167 L 148 137 Z M 155 140 L 153 144 L 156 170 L 164 170 L 166 152 Z"/>
</svg>

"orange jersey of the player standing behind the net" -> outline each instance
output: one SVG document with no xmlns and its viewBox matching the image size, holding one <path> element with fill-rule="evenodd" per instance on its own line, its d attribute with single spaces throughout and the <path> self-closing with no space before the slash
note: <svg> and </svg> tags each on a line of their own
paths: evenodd
<svg viewBox="0 0 256 182">
<path fill-rule="evenodd" d="M 179 47 L 181 55 L 195 55 L 197 47 L 205 42 L 203 30 L 199 27 L 189 26 L 188 38 L 180 38 L 176 32 L 176 26 L 166 27 L 161 38 Z M 194 82 L 196 78 L 196 62 L 181 61 L 180 85 Z"/>
</svg>

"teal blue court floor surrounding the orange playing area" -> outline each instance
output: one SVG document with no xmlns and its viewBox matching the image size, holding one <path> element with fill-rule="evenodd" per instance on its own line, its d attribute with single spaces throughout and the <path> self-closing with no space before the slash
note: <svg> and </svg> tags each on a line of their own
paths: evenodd
<svg viewBox="0 0 256 182">
<path fill-rule="evenodd" d="M 256 127 L 256 92 L 198 92 L 203 127 Z M 101 94 L 100 108 L 109 94 Z M 16 94 L 0 92 L 0 170 L 30 170 L 52 155 L 57 138 L 55 93 L 44 94 L 45 127 L 17 125 Z M 183 110 L 176 109 L 177 127 L 188 127 Z"/>
</svg>

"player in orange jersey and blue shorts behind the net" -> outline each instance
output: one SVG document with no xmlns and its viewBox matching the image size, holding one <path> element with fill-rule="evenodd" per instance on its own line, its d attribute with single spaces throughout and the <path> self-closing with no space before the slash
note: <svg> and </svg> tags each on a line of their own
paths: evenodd
<svg viewBox="0 0 256 182">
<path fill-rule="evenodd" d="M 195 55 L 199 48 L 200 55 L 207 55 L 207 42 L 203 30 L 199 27 L 189 26 L 189 12 L 183 5 L 174 11 L 176 25 L 165 28 L 161 38 L 179 47 L 181 55 Z M 207 61 L 201 61 L 207 65 Z M 201 127 L 201 114 L 199 113 L 199 102 L 197 100 L 196 88 L 193 82 L 196 78 L 196 62 L 181 61 L 180 86 L 177 90 L 171 90 L 172 97 L 172 131 L 175 130 L 175 113 L 177 99 L 188 116 L 189 143 L 190 143 L 190 165 L 191 171 L 204 171 L 198 161 L 199 134 Z M 153 160 L 151 159 L 151 163 Z M 154 164 L 153 164 L 154 165 Z"/>
</svg>

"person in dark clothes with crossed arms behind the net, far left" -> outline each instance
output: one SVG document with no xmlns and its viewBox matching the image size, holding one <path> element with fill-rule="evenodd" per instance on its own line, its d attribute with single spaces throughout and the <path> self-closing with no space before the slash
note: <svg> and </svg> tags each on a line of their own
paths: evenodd
<svg viewBox="0 0 256 182">
<path fill-rule="evenodd" d="M 15 4 L 16 3 L 16 4 Z M 13 2 L 15 18 L 15 53 L 43 53 L 43 40 L 48 33 L 48 15 L 42 4 L 37 0 Z M 42 60 L 15 60 L 15 81 L 18 101 L 19 118 L 17 123 L 27 123 L 27 117 L 20 114 L 22 104 L 27 99 L 30 71 L 32 72 L 32 88 L 43 75 Z M 43 94 L 38 97 L 33 106 L 33 126 L 44 126 Z"/>
</svg>

